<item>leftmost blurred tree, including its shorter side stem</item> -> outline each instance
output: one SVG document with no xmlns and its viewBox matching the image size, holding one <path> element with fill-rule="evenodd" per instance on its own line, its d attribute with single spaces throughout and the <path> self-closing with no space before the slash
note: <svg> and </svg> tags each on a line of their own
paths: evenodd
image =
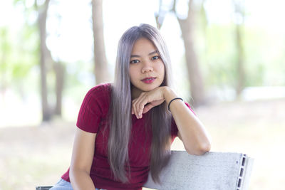
<svg viewBox="0 0 285 190">
<path fill-rule="evenodd" d="M 33 6 L 27 7 L 26 0 L 15 0 L 16 4 L 24 6 L 26 11 L 35 11 L 37 14 L 37 27 L 39 33 L 40 68 L 41 68 L 41 107 L 43 122 L 51 120 L 53 115 L 61 116 L 61 105 L 63 95 L 64 67 L 60 62 L 53 60 L 51 51 L 46 46 L 46 20 L 50 0 L 34 0 Z M 53 70 L 56 76 L 56 105 L 54 108 L 48 103 L 47 73 Z"/>
</svg>

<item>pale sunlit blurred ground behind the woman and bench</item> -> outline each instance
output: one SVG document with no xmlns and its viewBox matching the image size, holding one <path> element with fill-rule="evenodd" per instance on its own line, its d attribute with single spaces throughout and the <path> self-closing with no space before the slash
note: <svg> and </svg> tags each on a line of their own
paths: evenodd
<svg viewBox="0 0 285 190">
<path fill-rule="evenodd" d="M 285 99 L 223 102 L 195 112 L 214 152 L 254 158 L 249 189 L 283 189 Z M 68 169 L 75 122 L 0 128 L 0 190 L 52 185 Z M 175 139 L 172 149 L 183 149 Z"/>
</svg>

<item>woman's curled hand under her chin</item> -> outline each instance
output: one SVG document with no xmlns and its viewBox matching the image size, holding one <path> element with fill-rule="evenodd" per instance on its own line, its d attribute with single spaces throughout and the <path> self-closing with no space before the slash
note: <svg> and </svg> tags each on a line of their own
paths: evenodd
<svg viewBox="0 0 285 190">
<path fill-rule="evenodd" d="M 138 119 L 142 118 L 143 113 L 165 101 L 164 92 L 164 87 L 157 87 L 149 92 L 141 93 L 132 101 L 132 114 L 135 114 Z"/>
</svg>

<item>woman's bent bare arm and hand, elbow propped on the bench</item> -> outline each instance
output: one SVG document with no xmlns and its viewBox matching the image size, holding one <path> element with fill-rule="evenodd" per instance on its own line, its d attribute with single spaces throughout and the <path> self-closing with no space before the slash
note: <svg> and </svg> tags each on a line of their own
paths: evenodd
<svg viewBox="0 0 285 190">
<path fill-rule="evenodd" d="M 148 112 L 152 107 L 166 101 L 167 104 L 177 97 L 175 92 L 167 87 L 158 87 L 154 90 L 141 93 L 133 100 L 132 114 L 138 119 L 142 114 Z M 149 103 L 149 104 L 147 104 Z M 170 104 L 170 111 L 178 128 L 178 137 L 182 140 L 186 151 L 189 154 L 201 155 L 211 149 L 209 135 L 198 118 L 181 100 L 174 100 Z"/>
</svg>

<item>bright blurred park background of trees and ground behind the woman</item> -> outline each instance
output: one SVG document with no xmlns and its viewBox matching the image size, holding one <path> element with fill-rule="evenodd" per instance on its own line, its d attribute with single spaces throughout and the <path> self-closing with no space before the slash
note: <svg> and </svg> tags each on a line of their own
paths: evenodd
<svg viewBox="0 0 285 190">
<path fill-rule="evenodd" d="M 0 1 L 0 189 L 52 185 L 68 169 L 87 91 L 112 82 L 120 36 L 160 28 L 173 88 L 212 151 L 255 159 L 249 189 L 283 189 L 284 1 Z M 172 149 L 183 149 L 178 139 Z"/>
</svg>

